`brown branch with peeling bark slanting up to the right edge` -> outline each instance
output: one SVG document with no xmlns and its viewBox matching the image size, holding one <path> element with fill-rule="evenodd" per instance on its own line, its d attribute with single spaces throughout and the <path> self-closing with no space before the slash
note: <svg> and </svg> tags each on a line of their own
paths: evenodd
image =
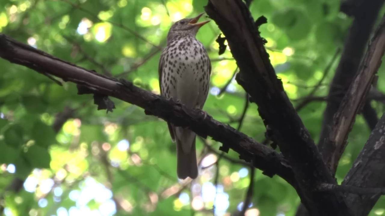
<svg viewBox="0 0 385 216">
<path fill-rule="evenodd" d="M 328 139 L 324 145 L 326 152 L 333 152 L 327 160 L 333 172 L 336 171 L 338 161 L 347 145 L 346 140 L 350 130 L 352 130 L 355 116 L 365 103 L 365 97 L 381 65 L 381 58 L 384 51 L 385 18 L 383 18 L 373 36 L 372 42 L 360 66 L 360 72 L 354 78 L 352 85 L 350 85 L 349 90 L 341 102 L 338 112 L 335 114 L 330 139 Z"/>
</svg>

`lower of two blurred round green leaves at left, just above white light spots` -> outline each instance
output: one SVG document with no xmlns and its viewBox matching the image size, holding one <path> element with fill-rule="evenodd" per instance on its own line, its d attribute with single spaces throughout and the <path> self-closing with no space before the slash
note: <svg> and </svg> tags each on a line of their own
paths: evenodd
<svg viewBox="0 0 385 216">
<path fill-rule="evenodd" d="M 49 168 L 49 163 L 51 161 L 51 156 L 47 149 L 33 145 L 28 148 L 27 153 L 25 153 L 25 158 L 31 164 L 31 166 L 36 168 Z"/>
</svg>

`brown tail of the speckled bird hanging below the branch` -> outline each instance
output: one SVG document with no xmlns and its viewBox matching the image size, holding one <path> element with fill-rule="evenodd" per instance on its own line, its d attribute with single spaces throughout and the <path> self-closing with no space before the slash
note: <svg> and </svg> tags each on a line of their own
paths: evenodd
<svg viewBox="0 0 385 216">
<path fill-rule="evenodd" d="M 178 178 L 192 179 L 198 176 L 196 163 L 195 133 L 191 130 L 176 127 L 176 151 Z"/>
</svg>

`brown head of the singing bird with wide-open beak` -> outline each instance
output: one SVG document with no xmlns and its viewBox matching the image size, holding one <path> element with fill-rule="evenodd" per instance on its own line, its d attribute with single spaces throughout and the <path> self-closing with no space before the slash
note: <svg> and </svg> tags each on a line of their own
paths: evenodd
<svg viewBox="0 0 385 216">
<path fill-rule="evenodd" d="M 203 14 L 204 13 L 201 13 L 194 18 L 184 18 L 175 22 L 171 26 L 170 31 L 167 35 L 167 41 L 171 41 L 172 39 L 180 35 L 192 35 L 195 37 L 199 28 L 201 28 L 204 24 L 210 22 L 210 20 L 208 20 L 198 23 L 199 18 L 202 17 Z"/>
</svg>

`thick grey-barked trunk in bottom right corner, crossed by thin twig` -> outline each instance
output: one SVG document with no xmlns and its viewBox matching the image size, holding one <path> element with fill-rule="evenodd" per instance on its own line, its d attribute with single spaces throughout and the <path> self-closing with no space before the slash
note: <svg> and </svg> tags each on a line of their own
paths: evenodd
<svg viewBox="0 0 385 216">
<path fill-rule="evenodd" d="M 360 188 L 385 187 L 385 115 L 378 121 L 369 140 L 360 155 L 353 163 L 352 169 L 346 175 L 342 185 Z M 346 201 L 357 216 L 368 215 L 374 204 L 384 194 L 385 190 L 378 190 L 377 194 L 348 194 Z"/>
</svg>

